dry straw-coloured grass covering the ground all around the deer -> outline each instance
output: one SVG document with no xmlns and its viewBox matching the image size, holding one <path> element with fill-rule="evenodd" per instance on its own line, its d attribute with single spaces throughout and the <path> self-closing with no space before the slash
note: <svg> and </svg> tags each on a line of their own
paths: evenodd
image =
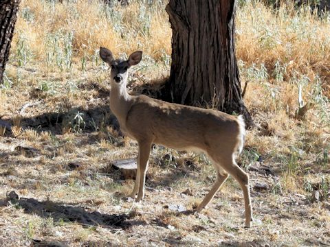
<svg viewBox="0 0 330 247">
<path fill-rule="evenodd" d="M 215 174 L 204 156 L 155 147 L 147 186 L 157 191 L 146 191 L 140 203 L 122 200 L 133 181 L 122 180 L 109 165 L 136 156 L 137 145 L 108 121 L 107 70 L 98 47 L 109 47 L 116 56 L 144 51 L 142 64 L 131 71 L 129 91 L 142 91 L 146 82 L 168 75 L 166 1 L 131 1 L 128 8 L 64 2 L 21 1 L 0 89 L 0 117 L 13 126 L 12 132 L 0 129 L 0 246 L 32 239 L 69 246 L 329 244 L 329 17 L 284 7 L 276 14 L 258 1 L 237 10 L 236 53 L 242 83 L 248 83 L 245 104 L 259 126 L 248 131 L 239 163 L 244 169 L 267 167 L 273 174 L 250 172 L 252 187 L 265 183 L 268 189 L 252 189 L 254 228 L 246 230 L 241 189 L 232 178 L 203 214 L 164 209 L 168 204 L 193 209 L 206 195 Z M 313 104 L 302 119 L 295 117 L 299 88 L 303 103 Z M 40 152 L 17 152 L 18 146 Z M 181 193 L 188 188 L 192 196 Z M 5 193 L 12 190 L 38 200 L 30 206 L 45 202 L 45 208 L 32 213 L 19 204 L 24 200 L 6 203 Z M 321 201 L 311 203 L 316 190 Z M 54 202 L 67 209 L 64 218 L 44 215 Z M 131 226 L 70 220 L 79 207 L 84 217 L 95 211 L 102 217 L 126 213 Z"/>
</svg>

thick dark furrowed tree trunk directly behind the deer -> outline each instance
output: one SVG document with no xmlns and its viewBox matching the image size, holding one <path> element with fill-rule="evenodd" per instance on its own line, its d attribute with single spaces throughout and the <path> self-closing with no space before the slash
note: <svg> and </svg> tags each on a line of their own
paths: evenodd
<svg viewBox="0 0 330 247">
<path fill-rule="evenodd" d="M 212 106 L 252 119 L 241 96 L 234 46 L 233 0 L 170 0 L 170 78 L 162 95 L 179 104 Z"/>
</svg>

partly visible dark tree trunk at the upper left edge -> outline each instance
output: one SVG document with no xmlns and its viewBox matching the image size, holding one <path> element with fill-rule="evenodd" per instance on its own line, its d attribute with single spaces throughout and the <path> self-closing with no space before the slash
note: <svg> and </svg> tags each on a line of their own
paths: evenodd
<svg viewBox="0 0 330 247">
<path fill-rule="evenodd" d="M 17 11 L 21 0 L 0 1 L 0 84 L 3 83 L 3 71 L 8 60 L 10 43 L 14 34 Z"/>
</svg>

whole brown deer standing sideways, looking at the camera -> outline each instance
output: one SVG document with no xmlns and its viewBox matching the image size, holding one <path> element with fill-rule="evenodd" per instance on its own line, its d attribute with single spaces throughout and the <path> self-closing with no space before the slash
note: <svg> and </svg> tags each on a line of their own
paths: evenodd
<svg viewBox="0 0 330 247">
<path fill-rule="evenodd" d="M 231 175 L 243 189 L 245 226 L 250 227 L 249 176 L 235 162 L 235 154 L 243 149 L 243 117 L 171 104 L 145 95 L 129 95 L 126 91 L 127 70 L 142 60 L 142 51 L 133 52 L 129 60 L 115 60 L 109 49 L 100 47 L 100 57 L 111 67 L 111 111 L 118 118 L 120 130 L 139 145 L 137 176 L 131 198 L 136 198 L 136 201 L 144 198 L 146 169 L 153 143 L 176 150 L 198 150 L 208 154 L 216 169 L 217 181 L 197 207 L 197 212 L 206 207 Z"/>
</svg>

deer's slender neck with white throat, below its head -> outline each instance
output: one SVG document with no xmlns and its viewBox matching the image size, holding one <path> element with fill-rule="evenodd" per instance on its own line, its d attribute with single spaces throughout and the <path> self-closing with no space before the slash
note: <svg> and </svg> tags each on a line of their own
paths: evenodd
<svg viewBox="0 0 330 247">
<path fill-rule="evenodd" d="M 126 83 L 121 85 L 111 84 L 110 92 L 110 109 L 117 117 L 120 128 L 124 128 L 125 120 L 129 109 L 131 108 L 132 96 L 127 93 Z"/>
</svg>

